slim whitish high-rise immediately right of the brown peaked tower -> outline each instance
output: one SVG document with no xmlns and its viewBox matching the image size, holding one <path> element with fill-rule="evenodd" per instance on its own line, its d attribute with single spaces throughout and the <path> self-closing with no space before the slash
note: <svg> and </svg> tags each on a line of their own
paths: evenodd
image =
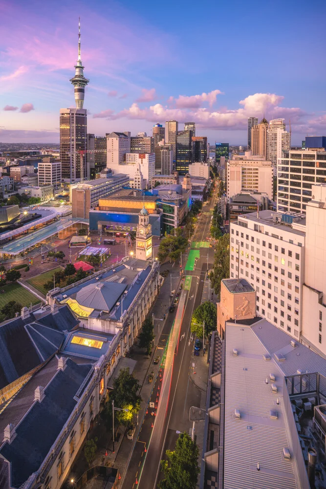
<svg viewBox="0 0 326 489">
<path fill-rule="evenodd" d="M 272 162 L 276 176 L 277 161 L 282 157 L 282 151 L 290 149 L 290 133 L 285 131 L 284 119 L 273 119 L 268 123 L 267 158 Z"/>
</svg>

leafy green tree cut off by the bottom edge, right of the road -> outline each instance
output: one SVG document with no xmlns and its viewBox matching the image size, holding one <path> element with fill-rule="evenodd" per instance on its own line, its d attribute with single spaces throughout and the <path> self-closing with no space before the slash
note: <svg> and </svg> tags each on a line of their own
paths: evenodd
<svg viewBox="0 0 326 489">
<path fill-rule="evenodd" d="M 186 432 L 180 433 L 174 451 L 167 450 L 168 460 L 161 460 L 164 479 L 159 489 L 195 489 L 199 474 L 199 449 Z"/>
</svg>

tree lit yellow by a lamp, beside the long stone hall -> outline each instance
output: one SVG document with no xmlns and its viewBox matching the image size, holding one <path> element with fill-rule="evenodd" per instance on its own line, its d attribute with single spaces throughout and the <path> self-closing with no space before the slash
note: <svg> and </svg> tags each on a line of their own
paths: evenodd
<svg viewBox="0 0 326 489">
<path fill-rule="evenodd" d="M 128 409 L 127 412 L 117 411 L 115 414 L 116 419 L 126 426 L 132 421 L 133 415 L 137 414 L 140 409 L 141 397 L 137 394 L 139 389 L 140 383 L 129 373 L 129 367 L 121 369 L 118 377 L 113 381 L 113 390 L 109 400 L 114 400 L 115 407 Z M 110 410 L 110 407 L 108 407 L 108 410 Z"/>
</svg>

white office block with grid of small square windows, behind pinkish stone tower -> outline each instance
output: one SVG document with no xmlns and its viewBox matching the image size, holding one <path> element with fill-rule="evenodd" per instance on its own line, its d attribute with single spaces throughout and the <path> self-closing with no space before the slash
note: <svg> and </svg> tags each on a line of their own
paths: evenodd
<svg viewBox="0 0 326 489">
<path fill-rule="evenodd" d="M 303 218 L 265 210 L 230 224 L 230 277 L 246 278 L 257 291 L 257 315 L 296 339 L 302 329 Z"/>
</svg>

